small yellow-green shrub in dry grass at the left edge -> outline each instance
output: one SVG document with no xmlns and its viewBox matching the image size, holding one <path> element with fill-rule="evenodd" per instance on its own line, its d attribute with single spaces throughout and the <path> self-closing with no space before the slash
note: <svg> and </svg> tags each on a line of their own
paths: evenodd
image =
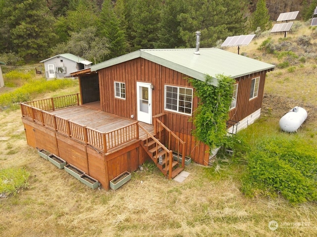
<svg viewBox="0 0 317 237">
<path fill-rule="evenodd" d="M 16 195 L 20 189 L 28 187 L 30 172 L 25 169 L 0 169 L 0 194 Z"/>
</svg>

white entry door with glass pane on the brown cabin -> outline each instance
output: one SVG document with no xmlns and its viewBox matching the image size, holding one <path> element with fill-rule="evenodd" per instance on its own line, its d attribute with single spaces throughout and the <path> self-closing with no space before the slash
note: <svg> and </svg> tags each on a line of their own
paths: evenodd
<svg viewBox="0 0 317 237">
<path fill-rule="evenodd" d="M 150 83 L 137 82 L 138 121 L 152 124 L 152 90 Z"/>
</svg>

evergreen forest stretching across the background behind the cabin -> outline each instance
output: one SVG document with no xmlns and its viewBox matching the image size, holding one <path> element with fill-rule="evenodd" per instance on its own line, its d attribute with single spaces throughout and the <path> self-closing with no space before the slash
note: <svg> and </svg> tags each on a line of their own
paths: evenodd
<svg viewBox="0 0 317 237">
<path fill-rule="evenodd" d="M 308 20 L 317 0 L 0 0 L 0 61 L 72 53 L 98 63 L 140 48 L 214 47 L 263 32 L 282 12 Z"/>
</svg>

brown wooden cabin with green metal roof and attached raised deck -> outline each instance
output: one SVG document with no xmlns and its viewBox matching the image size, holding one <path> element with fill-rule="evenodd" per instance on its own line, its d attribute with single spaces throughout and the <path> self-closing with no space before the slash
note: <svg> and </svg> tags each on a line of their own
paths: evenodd
<svg viewBox="0 0 317 237">
<path fill-rule="evenodd" d="M 111 179 L 148 159 L 173 178 L 184 169 L 173 153 L 203 165 L 211 158 L 210 148 L 191 135 L 198 98 L 188 79 L 208 74 L 215 86 L 218 74 L 236 79 L 228 120 L 235 133 L 259 118 L 265 76 L 273 68 L 217 48 L 141 49 L 73 73 L 80 96 L 22 103 L 27 142 L 82 169 L 106 190 Z"/>
</svg>

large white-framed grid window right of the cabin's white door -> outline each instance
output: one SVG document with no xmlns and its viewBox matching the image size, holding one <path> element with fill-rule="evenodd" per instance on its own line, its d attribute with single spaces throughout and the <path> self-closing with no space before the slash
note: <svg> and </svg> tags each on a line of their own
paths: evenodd
<svg viewBox="0 0 317 237">
<path fill-rule="evenodd" d="M 193 89 L 165 85 L 165 110 L 192 115 Z"/>
</svg>

